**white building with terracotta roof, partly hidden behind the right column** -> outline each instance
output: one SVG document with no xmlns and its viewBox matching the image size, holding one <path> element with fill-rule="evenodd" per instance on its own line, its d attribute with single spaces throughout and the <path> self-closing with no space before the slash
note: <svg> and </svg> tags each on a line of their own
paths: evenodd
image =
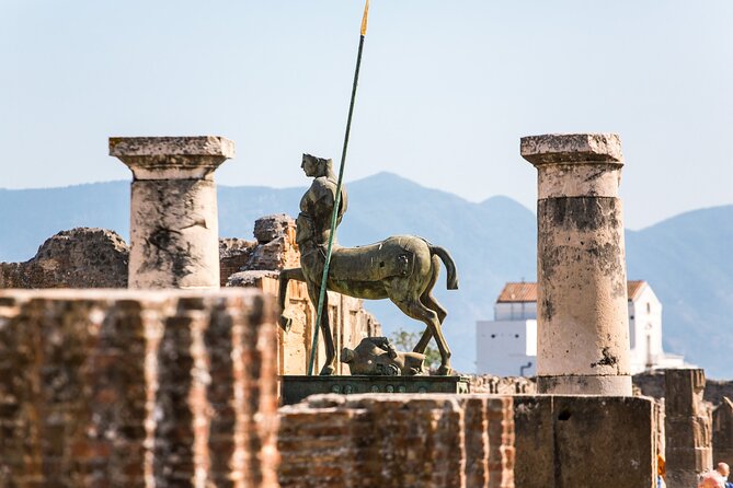
<svg viewBox="0 0 733 488">
<path fill-rule="evenodd" d="M 682 356 L 662 348 L 662 304 L 646 281 L 629 281 L 631 374 L 680 368 Z M 477 372 L 532 376 L 537 371 L 537 283 L 506 283 L 494 305 L 494 319 L 476 325 Z"/>
</svg>

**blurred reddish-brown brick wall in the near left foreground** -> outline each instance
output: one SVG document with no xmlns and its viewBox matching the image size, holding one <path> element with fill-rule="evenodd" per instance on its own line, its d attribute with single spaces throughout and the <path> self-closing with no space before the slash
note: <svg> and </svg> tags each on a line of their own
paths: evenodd
<svg viewBox="0 0 733 488">
<path fill-rule="evenodd" d="M 0 486 L 274 487 L 253 290 L 0 291 Z"/>
</svg>

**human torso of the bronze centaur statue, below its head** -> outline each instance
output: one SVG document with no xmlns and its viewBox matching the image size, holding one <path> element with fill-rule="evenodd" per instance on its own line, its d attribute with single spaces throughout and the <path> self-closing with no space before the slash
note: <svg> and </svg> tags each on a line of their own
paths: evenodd
<svg viewBox="0 0 733 488">
<path fill-rule="evenodd" d="M 336 182 L 333 177 L 319 176 L 300 199 L 300 213 L 296 221 L 296 242 L 300 252 L 308 252 L 319 246 L 328 246 L 331 235 L 331 214 L 336 197 Z M 346 189 L 341 188 L 341 201 L 336 225 L 346 212 Z M 335 245 L 335 241 L 334 241 Z"/>
</svg>

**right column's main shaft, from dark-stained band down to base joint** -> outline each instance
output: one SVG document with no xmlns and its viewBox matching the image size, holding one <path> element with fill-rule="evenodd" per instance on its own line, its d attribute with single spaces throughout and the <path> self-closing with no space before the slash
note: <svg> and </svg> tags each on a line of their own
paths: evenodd
<svg viewBox="0 0 733 488">
<path fill-rule="evenodd" d="M 619 204 L 588 197 L 538 202 L 540 376 L 629 375 Z"/>
</svg>

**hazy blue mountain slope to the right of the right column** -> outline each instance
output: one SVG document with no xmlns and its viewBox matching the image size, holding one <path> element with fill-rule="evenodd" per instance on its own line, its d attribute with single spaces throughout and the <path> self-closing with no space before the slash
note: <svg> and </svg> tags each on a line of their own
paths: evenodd
<svg viewBox="0 0 733 488">
<path fill-rule="evenodd" d="M 696 210 L 627 231 L 629 276 L 662 301 L 664 346 L 733 376 L 733 206 Z"/>
</svg>

